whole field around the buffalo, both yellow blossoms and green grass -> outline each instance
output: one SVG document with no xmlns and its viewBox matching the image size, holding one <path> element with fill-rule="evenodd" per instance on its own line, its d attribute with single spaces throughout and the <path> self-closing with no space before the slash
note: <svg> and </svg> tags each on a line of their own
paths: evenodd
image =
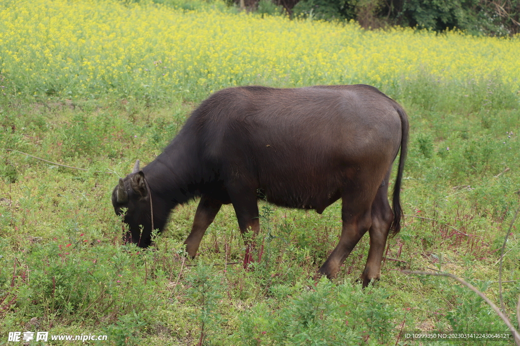
<svg viewBox="0 0 520 346">
<path fill-rule="evenodd" d="M 85 342 L 100 345 L 513 344 L 406 338 L 507 329 L 459 284 L 401 270 L 459 275 L 499 304 L 520 198 L 520 38 L 194 4 L 0 0 L 0 344 L 16 344 L 12 331 L 107 335 Z M 407 216 L 378 284 L 355 283 L 368 237 L 337 280 L 309 279 L 337 243 L 340 203 L 322 215 L 259 204 L 263 253 L 249 270 L 230 205 L 195 260 L 182 244 L 196 202 L 177 207 L 153 249 L 122 245 L 110 202 L 118 177 L 160 154 L 212 91 L 358 82 L 396 99 L 411 124 Z M 512 317 L 518 223 L 502 263 Z"/>
</svg>

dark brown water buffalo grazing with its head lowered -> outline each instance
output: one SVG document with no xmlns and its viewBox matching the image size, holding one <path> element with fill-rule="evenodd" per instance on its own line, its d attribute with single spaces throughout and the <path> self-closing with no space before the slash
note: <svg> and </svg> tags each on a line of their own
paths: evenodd
<svg viewBox="0 0 520 346">
<path fill-rule="evenodd" d="M 200 197 L 185 241 L 193 257 L 222 204 L 233 204 L 242 234 L 257 234 L 259 196 L 319 214 L 341 198 L 341 238 L 318 273 L 335 278 L 368 231 L 366 286 L 381 275 L 388 234 L 400 229 L 407 140 L 405 111 L 371 86 L 224 89 L 193 111 L 153 162 L 142 170 L 137 162 L 119 179 L 112 203 L 118 215 L 127 208 L 125 240 L 147 247 L 152 224 L 161 231 L 177 204 Z M 399 148 L 392 211 L 388 179 Z"/>
</svg>

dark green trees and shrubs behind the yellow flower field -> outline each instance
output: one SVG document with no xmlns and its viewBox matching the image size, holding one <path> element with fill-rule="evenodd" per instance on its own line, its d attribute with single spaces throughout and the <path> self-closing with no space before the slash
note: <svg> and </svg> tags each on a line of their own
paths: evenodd
<svg viewBox="0 0 520 346">
<path fill-rule="evenodd" d="M 292 12 L 318 20 L 355 19 L 366 28 L 398 24 L 436 32 L 457 28 L 473 35 L 520 32 L 520 0 L 301 0 Z"/>
</svg>

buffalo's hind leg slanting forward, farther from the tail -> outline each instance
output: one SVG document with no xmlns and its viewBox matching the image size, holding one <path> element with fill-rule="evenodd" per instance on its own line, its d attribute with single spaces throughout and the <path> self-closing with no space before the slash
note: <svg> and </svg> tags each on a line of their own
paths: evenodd
<svg viewBox="0 0 520 346">
<path fill-rule="evenodd" d="M 359 197 L 353 199 L 353 195 L 353 193 L 350 193 L 342 196 L 343 206 L 341 219 L 343 221 L 343 227 L 340 242 L 318 270 L 319 274 L 327 275 L 329 279 L 336 278 L 341 265 L 361 237 L 363 237 L 363 234 L 369 230 L 372 223 L 371 205 L 366 202 L 363 203 Z"/>
</svg>

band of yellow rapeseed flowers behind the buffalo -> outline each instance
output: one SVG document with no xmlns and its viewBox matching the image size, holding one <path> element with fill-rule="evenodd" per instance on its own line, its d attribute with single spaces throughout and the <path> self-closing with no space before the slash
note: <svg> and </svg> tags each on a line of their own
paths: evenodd
<svg viewBox="0 0 520 346">
<path fill-rule="evenodd" d="M 422 74 L 498 76 L 516 92 L 519 52 L 520 37 L 365 31 L 110 0 L 0 0 L 0 73 L 11 94 L 198 98 L 236 85 L 358 82 L 385 89 Z"/>
</svg>

